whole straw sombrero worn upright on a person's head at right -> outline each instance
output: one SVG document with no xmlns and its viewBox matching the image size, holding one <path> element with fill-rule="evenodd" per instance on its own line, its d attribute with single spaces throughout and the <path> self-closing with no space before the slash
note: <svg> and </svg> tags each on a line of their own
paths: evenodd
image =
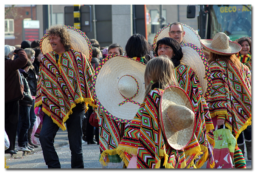
<svg viewBox="0 0 256 173">
<path fill-rule="evenodd" d="M 201 40 L 201 44 L 207 51 L 219 55 L 233 55 L 241 51 L 241 45 L 229 41 L 224 32 L 218 32 L 213 39 Z"/>
</svg>

